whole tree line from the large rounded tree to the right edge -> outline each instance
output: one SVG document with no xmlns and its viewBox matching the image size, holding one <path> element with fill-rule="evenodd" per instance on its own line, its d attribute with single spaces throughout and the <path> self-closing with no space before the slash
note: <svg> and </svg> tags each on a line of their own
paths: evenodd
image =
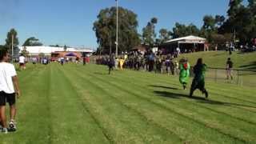
<svg viewBox="0 0 256 144">
<path fill-rule="evenodd" d="M 170 38 L 180 38 L 187 35 L 196 35 L 206 38 L 212 44 L 226 42 L 250 43 L 256 38 L 256 0 L 230 0 L 227 17 L 223 15 L 205 15 L 202 18 L 202 27 L 193 23 L 185 25 L 176 22 L 172 30 L 160 28 L 155 33 L 158 18 L 151 18 L 146 26 L 142 28 L 142 35 L 138 34 L 137 15 L 131 10 L 122 7 L 119 9 L 119 39 L 118 44 L 121 51 L 130 50 L 141 41 L 150 46 L 158 46 Z M 100 48 L 109 51 L 110 45 L 114 46 L 116 37 L 116 8 L 106 8 L 98 14 L 98 20 L 94 22 L 94 31 Z M 140 39 L 141 38 L 141 39 Z"/>
</svg>

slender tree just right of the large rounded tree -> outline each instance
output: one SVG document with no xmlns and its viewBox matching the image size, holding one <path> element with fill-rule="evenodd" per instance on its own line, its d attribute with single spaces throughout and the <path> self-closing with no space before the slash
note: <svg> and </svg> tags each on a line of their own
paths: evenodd
<svg viewBox="0 0 256 144">
<path fill-rule="evenodd" d="M 158 18 L 151 18 L 150 22 L 142 29 L 142 42 L 150 47 L 153 47 L 156 42 L 155 25 L 158 23 Z"/>
</svg>

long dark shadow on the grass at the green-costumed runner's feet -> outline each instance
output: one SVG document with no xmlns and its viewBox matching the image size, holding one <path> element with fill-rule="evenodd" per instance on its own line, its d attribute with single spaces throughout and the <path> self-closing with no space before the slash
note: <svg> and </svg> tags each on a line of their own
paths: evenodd
<svg viewBox="0 0 256 144">
<path fill-rule="evenodd" d="M 232 103 L 232 102 L 220 102 L 220 101 L 214 101 L 214 100 L 210 100 L 208 98 L 202 98 L 202 97 L 194 97 L 194 96 L 190 97 L 189 95 L 186 95 L 186 94 L 176 94 L 176 93 L 171 93 L 167 91 L 154 91 L 154 94 L 158 94 L 158 96 L 166 97 L 166 98 L 190 98 L 190 99 L 194 99 L 196 102 L 206 103 L 210 105 L 243 106 L 243 107 L 256 108 L 256 106 L 248 106 L 248 105 Z"/>
</svg>

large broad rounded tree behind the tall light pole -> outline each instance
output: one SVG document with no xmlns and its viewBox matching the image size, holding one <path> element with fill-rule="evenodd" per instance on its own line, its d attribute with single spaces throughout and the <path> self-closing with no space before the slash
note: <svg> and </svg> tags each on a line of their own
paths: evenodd
<svg viewBox="0 0 256 144">
<path fill-rule="evenodd" d="M 116 38 L 116 7 L 101 10 L 94 22 L 98 45 L 103 48 L 103 53 L 108 53 L 110 44 L 114 46 Z M 133 11 L 118 7 L 118 51 L 131 50 L 140 44 L 138 34 L 137 14 Z M 114 52 L 114 50 L 112 50 Z"/>
</svg>

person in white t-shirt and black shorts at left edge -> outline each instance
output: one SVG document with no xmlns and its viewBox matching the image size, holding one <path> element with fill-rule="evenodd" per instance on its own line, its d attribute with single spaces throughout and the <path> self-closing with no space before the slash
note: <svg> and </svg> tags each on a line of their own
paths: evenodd
<svg viewBox="0 0 256 144">
<path fill-rule="evenodd" d="M 18 77 L 13 64 L 10 64 L 10 54 L 5 49 L 0 50 L 0 118 L 2 132 L 7 133 L 6 102 L 10 105 L 10 130 L 15 131 L 16 96 L 20 97 Z"/>
</svg>

